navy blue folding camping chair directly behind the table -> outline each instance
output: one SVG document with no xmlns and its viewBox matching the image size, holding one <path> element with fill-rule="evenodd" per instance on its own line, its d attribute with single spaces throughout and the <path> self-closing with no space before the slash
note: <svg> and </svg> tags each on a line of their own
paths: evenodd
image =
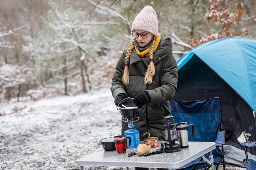
<svg viewBox="0 0 256 170">
<path fill-rule="evenodd" d="M 218 170 L 219 163 L 222 161 L 223 169 L 225 170 L 225 151 L 223 149 L 225 130 L 221 126 L 222 110 L 220 98 L 216 97 L 192 102 L 171 99 L 170 104 L 171 115 L 174 116 L 175 123 L 188 122 L 188 124 L 195 125 L 194 136 L 191 137 L 192 130 L 188 132 L 188 141 L 216 143 L 216 149 L 212 151 L 214 165 L 216 165 L 216 170 Z M 221 151 L 219 147 L 221 147 Z M 204 155 L 208 160 L 209 156 L 209 153 Z M 210 165 L 202 157 L 199 157 L 178 169 L 196 170 L 202 168 L 207 170 L 210 168 Z"/>
</svg>

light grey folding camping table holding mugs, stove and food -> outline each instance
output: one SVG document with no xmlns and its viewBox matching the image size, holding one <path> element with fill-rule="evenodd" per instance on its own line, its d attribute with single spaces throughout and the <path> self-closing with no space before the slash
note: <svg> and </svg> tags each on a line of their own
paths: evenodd
<svg viewBox="0 0 256 170">
<path fill-rule="evenodd" d="M 159 142 L 159 146 L 161 147 Z M 206 160 L 214 170 L 212 150 L 215 149 L 214 142 L 188 142 L 189 147 L 182 149 L 180 152 L 175 153 L 160 153 L 157 155 L 150 155 L 147 157 L 139 157 L 133 155 L 128 157 L 126 155 L 118 155 L 116 150 L 105 151 L 99 150 L 97 152 L 86 155 L 76 160 L 76 163 L 80 165 L 81 170 L 83 166 L 93 166 L 94 170 L 97 166 L 110 166 L 110 167 L 147 167 L 147 168 L 179 168 L 187 163 L 195 160 L 198 157 L 203 157 L 205 153 L 210 152 L 210 158 L 212 160 Z M 129 152 L 127 150 L 127 152 Z M 134 152 L 134 151 L 130 151 Z"/>
</svg>

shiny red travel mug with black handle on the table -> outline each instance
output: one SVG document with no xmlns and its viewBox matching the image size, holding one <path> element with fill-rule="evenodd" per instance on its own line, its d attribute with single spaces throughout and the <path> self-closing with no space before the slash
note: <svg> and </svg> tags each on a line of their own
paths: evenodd
<svg viewBox="0 0 256 170">
<path fill-rule="evenodd" d="M 129 139 L 129 146 L 127 147 L 127 138 Z M 126 137 L 126 135 L 118 135 L 114 137 L 115 148 L 117 153 L 120 155 L 125 155 L 127 148 L 131 145 L 131 137 Z"/>
</svg>

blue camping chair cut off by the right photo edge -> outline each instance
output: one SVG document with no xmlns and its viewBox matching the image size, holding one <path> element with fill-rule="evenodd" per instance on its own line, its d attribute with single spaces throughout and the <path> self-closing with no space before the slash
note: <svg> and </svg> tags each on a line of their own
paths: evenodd
<svg viewBox="0 0 256 170">
<path fill-rule="evenodd" d="M 246 159 L 243 160 L 244 167 L 246 167 L 247 170 L 255 170 L 256 168 L 256 161 L 253 159 L 248 159 L 248 153 L 247 153 L 247 148 L 249 147 L 256 147 L 256 142 L 242 142 L 240 143 L 245 150 L 245 157 Z"/>
</svg>

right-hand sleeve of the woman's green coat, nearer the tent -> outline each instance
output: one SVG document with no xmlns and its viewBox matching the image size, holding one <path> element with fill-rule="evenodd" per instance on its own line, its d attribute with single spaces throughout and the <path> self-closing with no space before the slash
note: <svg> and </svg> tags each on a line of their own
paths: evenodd
<svg viewBox="0 0 256 170">
<path fill-rule="evenodd" d="M 151 103 L 163 103 L 174 97 L 177 92 L 178 67 L 177 62 L 171 53 L 166 57 L 163 65 L 161 85 L 152 90 L 145 90 L 151 97 Z"/>
</svg>

